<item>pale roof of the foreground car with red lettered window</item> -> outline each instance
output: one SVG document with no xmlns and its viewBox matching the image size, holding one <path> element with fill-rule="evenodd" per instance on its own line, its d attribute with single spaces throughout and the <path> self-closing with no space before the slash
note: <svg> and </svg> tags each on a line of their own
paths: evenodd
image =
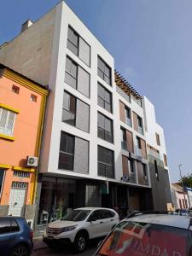
<svg viewBox="0 0 192 256">
<path fill-rule="evenodd" d="M 137 216 L 125 219 L 127 221 L 142 222 L 148 224 L 160 224 L 181 229 L 189 229 L 191 221 L 191 218 L 188 216 L 171 214 L 139 214 Z"/>
</svg>

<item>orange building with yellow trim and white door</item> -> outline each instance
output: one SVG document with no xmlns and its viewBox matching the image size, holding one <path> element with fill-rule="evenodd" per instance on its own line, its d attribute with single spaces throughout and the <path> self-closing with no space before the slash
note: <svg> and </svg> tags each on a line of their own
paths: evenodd
<svg viewBox="0 0 192 256">
<path fill-rule="evenodd" d="M 47 95 L 40 84 L 0 65 L 0 215 L 33 218 Z"/>
</svg>

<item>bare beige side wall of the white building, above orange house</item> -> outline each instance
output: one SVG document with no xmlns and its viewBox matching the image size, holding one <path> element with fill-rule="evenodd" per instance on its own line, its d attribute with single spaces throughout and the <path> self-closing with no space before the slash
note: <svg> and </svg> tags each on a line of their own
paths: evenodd
<svg viewBox="0 0 192 256">
<path fill-rule="evenodd" d="M 55 9 L 0 49 L 0 63 L 39 84 L 49 82 Z"/>
</svg>

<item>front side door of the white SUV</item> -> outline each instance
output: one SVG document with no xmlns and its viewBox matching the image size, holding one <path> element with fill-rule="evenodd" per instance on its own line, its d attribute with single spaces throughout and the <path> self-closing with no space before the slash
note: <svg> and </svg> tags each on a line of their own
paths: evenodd
<svg viewBox="0 0 192 256">
<path fill-rule="evenodd" d="M 87 219 L 88 222 L 88 232 L 90 238 L 102 236 L 102 213 L 100 210 L 95 210 L 90 213 L 90 217 Z M 91 219 L 95 219 L 92 220 Z"/>
</svg>

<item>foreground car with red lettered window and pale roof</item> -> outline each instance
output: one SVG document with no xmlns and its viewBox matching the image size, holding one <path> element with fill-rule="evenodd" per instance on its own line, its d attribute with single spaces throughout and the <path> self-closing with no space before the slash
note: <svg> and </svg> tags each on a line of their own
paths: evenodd
<svg viewBox="0 0 192 256">
<path fill-rule="evenodd" d="M 94 256 L 191 256 L 192 218 L 139 214 L 125 218 L 102 241 Z"/>
</svg>

